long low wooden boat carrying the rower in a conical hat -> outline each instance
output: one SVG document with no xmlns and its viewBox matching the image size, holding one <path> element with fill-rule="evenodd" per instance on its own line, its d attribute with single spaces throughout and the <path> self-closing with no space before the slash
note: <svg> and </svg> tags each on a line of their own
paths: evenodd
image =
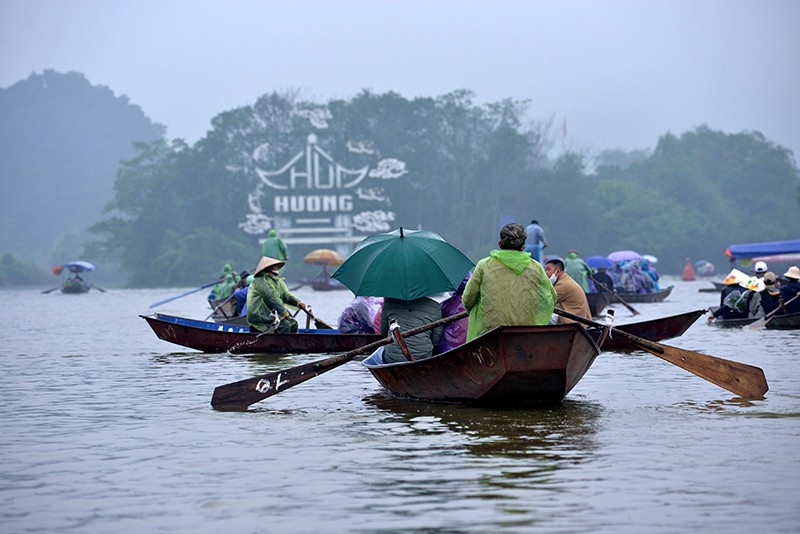
<svg viewBox="0 0 800 534">
<path fill-rule="evenodd" d="M 210 323 L 163 313 L 140 315 L 156 336 L 209 353 L 299 354 L 346 352 L 382 339 L 378 334 L 340 334 L 338 330 L 301 329 L 296 334 L 257 334 L 248 326 Z"/>
</svg>

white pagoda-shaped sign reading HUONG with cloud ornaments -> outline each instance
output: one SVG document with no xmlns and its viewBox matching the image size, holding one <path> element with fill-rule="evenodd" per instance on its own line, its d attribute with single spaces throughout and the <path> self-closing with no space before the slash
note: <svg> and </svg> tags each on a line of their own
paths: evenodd
<svg viewBox="0 0 800 534">
<path fill-rule="evenodd" d="M 316 127 L 328 115 L 312 115 Z M 286 244 L 342 245 L 358 243 L 365 235 L 388 232 L 396 214 L 389 211 L 391 200 L 380 186 L 381 180 L 394 180 L 408 171 L 405 163 L 386 158 L 370 168 L 369 164 L 349 169 L 317 144 L 310 134 L 304 150 L 279 169 L 259 165 L 259 153 L 269 144 L 253 151 L 258 184 L 248 195 L 250 213 L 239 227 L 246 233 L 260 235 L 275 228 Z M 347 142 L 353 154 L 365 158 L 377 153 L 365 142 Z"/>
</svg>

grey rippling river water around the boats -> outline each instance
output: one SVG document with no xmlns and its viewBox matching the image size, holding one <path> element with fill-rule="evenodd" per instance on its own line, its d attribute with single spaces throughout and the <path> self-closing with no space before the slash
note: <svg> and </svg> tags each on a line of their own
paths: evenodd
<svg viewBox="0 0 800 534">
<path fill-rule="evenodd" d="M 666 283 L 672 296 L 634 304 L 635 320 L 717 304 L 698 292 L 708 281 Z M 800 331 L 701 318 L 667 341 L 763 368 L 770 391 L 753 402 L 635 352 L 603 353 L 547 409 L 394 400 L 350 362 L 218 412 L 214 387 L 323 356 L 162 341 L 139 314 L 181 289 L 39 289 L 0 291 L 4 533 L 800 528 Z M 297 294 L 331 324 L 352 298 Z M 210 311 L 205 290 L 156 310 Z"/>
</svg>

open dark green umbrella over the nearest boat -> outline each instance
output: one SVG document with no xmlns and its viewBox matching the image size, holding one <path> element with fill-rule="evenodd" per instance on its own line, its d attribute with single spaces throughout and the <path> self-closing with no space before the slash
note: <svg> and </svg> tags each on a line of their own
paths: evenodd
<svg viewBox="0 0 800 534">
<path fill-rule="evenodd" d="M 364 239 L 333 278 L 357 296 L 414 300 L 454 291 L 473 266 L 439 234 L 399 228 Z"/>
</svg>

